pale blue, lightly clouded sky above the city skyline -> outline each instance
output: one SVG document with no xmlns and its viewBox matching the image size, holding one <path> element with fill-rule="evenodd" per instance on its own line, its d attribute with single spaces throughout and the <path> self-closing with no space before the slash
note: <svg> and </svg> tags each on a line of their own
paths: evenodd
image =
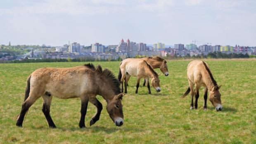
<svg viewBox="0 0 256 144">
<path fill-rule="evenodd" d="M 0 0 L 0 44 L 256 46 L 256 0 Z"/>
</svg>

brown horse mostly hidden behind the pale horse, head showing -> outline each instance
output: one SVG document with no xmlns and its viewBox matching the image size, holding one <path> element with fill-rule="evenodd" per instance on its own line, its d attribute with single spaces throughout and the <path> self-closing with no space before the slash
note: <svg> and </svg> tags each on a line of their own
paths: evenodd
<svg viewBox="0 0 256 144">
<path fill-rule="evenodd" d="M 132 59 L 132 58 L 130 58 Z M 168 72 L 168 67 L 167 67 L 167 61 L 161 57 L 144 57 L 144 58 L 140 58 L 140 59 L 135 59 L 135 60 L 145 60 L 147 61 L 147 63 L 152 66 L 152 68 L 156 69 L 156 68 L 160 68 L 160 71 L 162 73 L 164 73 L 165 76 L 168 76 L 169 75 L 169 72 Z M 130 77 L 129 77 L 130 78 Z M 127 79 L 127 83 L 128 83 L 129 79 Z M 144 83 L 143 83 L 143 86 L 145 86 L 146 84 L 146 79 L 144 79 Z M 128 84 L 127 84 L 128 85 Z"/>
</svg>

